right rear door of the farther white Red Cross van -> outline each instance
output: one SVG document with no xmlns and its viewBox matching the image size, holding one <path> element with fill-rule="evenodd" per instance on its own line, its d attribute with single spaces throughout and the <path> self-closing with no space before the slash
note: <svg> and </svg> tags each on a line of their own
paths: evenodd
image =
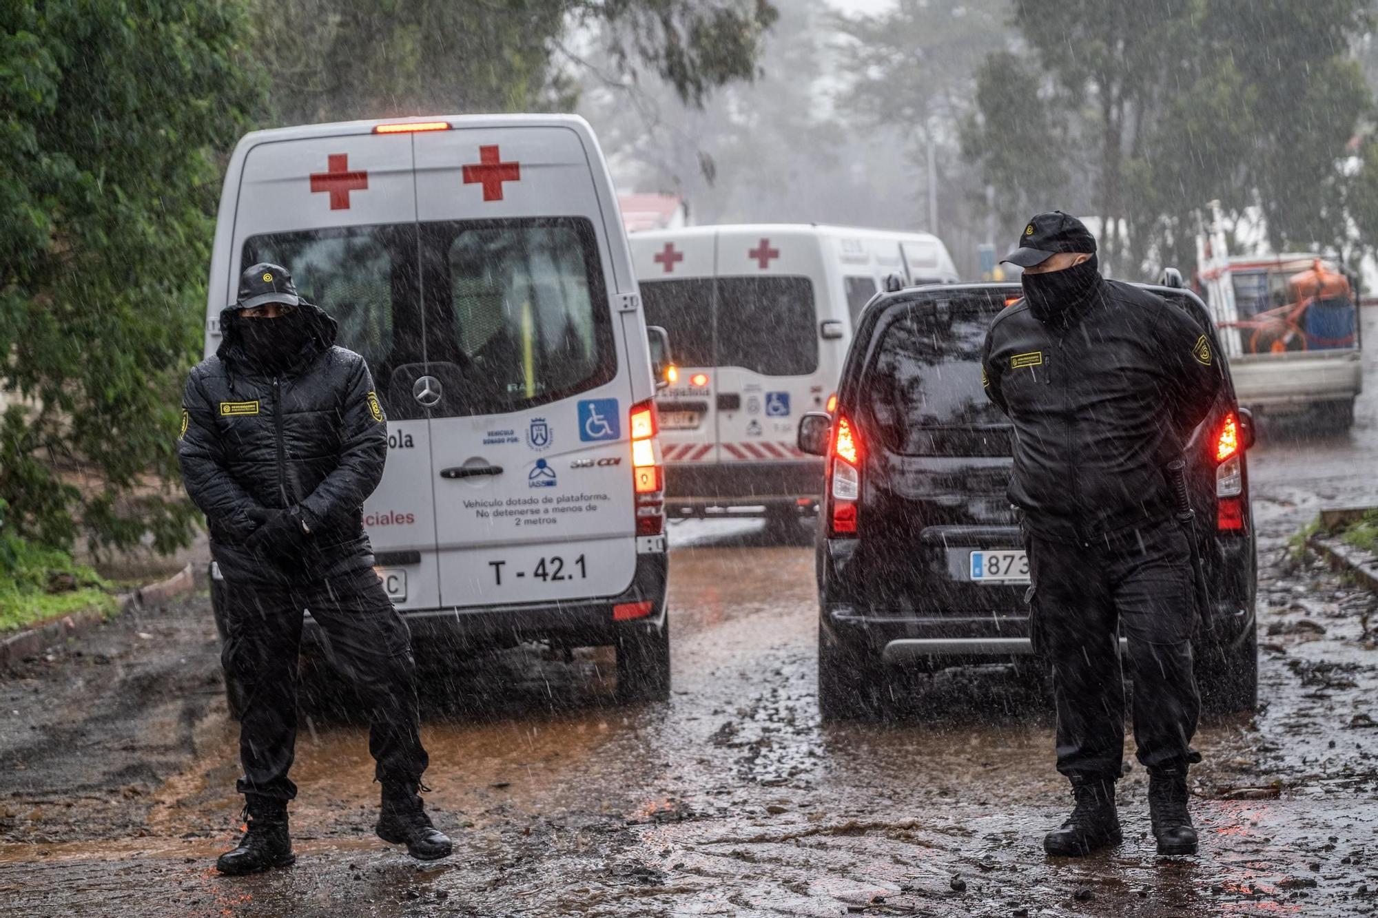
<svg viewBox="0 0 1378 918">
<path fill-rule="evenodd" d="M 821 411 L 819 240 L 763 230 L 718 234 L 717 397 L 719 460 L 806 459 L 799 415 Z M 830 383 L 831 385 L 831 380 Z"/>
</svg>

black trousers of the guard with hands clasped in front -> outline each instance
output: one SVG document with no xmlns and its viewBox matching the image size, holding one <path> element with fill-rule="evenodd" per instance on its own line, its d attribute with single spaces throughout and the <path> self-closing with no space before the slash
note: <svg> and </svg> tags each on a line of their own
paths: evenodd
<svg viewBox="0 0 1378 918">
<path fill-rule="evenodd" d="M 416 703 L 416 663 L 407 623 L 371 568 L 276 583 L 226 580 L 226 678 L 243 688 L 241 794 L 292 799 L 287 773 L 296 747 L 302 611 L 329 640 L 331 655 L 368 708 L 375 779 L 416 786 L 426 771 Z"/>
</svg>

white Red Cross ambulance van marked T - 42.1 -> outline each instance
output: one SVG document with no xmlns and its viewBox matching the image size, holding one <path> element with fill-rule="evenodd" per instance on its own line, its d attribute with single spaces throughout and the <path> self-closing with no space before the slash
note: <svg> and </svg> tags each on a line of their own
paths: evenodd
<svg viewBox="0 0 1378 918">
<path fill-rule="evenodd" d="M 666 697 L 656 369 L 588 124 L 249 134 L 225 176 L 207 354 L 255 262 L 288 267 L 373 372 L 390 448 L 365 528 L 415 644 L 616 645 L 621 695 Z"/>
</svg>

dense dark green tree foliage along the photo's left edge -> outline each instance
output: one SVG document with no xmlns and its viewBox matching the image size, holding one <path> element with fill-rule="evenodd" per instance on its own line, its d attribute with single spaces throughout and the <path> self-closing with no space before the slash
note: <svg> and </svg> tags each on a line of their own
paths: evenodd
<svg viewBox="0 0 1378 918">
<path fill-rule="evenodd" d="M 0 500 L 66 547 L 190 532 L 178 391 L 225 150 L 258 103 L 237 7 L 0 4 Z"/>
</svg>

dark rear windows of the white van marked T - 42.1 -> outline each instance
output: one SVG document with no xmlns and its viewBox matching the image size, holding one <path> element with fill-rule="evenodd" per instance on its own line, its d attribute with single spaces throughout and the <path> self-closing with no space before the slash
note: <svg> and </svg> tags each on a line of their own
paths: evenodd
<svg viewBox="0 0 1378 918">
<path fill-rule="evenodd" d="M 593 225 L 582 218 L 351 226 L 254 236 L 368 360 L 389 414 L 416 415 L 418 365 L 491 415 L 594 389 L 617 371 Z M 433 412 L 435 414 L 435 412 Z"/>
</svg>

